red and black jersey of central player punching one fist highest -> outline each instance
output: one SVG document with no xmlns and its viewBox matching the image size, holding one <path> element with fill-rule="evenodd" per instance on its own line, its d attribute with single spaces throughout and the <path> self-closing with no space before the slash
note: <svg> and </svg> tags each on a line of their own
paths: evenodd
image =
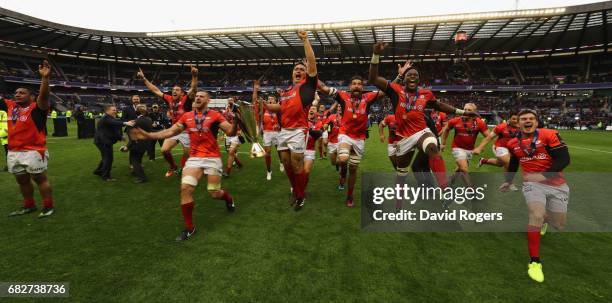
<svg viewBox="0 0 612 303">
<path fill-rule="evenodd" d="M 308 128 L 308 110 L 315 98 L 317 82 L 317 76 L 307 76 L 280 93 L 282 128 Z"/>
</svg>

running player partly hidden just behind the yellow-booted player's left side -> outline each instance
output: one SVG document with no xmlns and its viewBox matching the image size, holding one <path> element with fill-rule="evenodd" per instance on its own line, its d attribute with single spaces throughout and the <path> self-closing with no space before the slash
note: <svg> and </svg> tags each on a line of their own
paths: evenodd
<svg viewBox="0 0 612 303">
<path fill-rule="evenodd" d="M 510 163 L 510 152 L 506 147 L 506 143 L 510 141 L 512 138 L 516 137 L 518 133 L 518 116 L 516 114 L 510 114 L 510 119 L 508 122 L 502 122 L 493 128 L 493 132 L 491 132 L 487 137 L 485 137 L 480 145 L 476 147 L 473 151 L 473 154 L 480 155 L 482 150 L 491 140 L 497 138 L 495 140 L 493 148 L 493 154 L 495 158 L 480 158 L 478 161 L 478 167 L 483 165 L 493 165 L 497 167 L 504 167 L 504 171 L 508 171 L 508 164 Z M 514 185 L 510 185 L 510 190 L 516 191 L 518 188 Z"/>
</svg>

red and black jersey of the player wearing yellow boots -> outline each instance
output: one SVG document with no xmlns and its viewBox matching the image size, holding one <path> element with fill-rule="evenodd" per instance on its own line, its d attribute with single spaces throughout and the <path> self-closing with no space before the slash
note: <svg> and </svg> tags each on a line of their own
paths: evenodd
<svg viewBox="0 0 612 303">
<path fill-rule="evenodd" d="M 564 146 L 565 144 L 559 137 L 556 130 L 538 128 L 531 136 L 522 137 L 519 133 L 515 138 L 510 139 L 506 147 L 512 155 L 519 159 L 519 164 L 526 173 L 544 173 L 553 163 L 550 156 L 550 149 Z M 563 173 L 546 179 L 542 183 L 559 186 L 565 184 Z"/>
</svg>

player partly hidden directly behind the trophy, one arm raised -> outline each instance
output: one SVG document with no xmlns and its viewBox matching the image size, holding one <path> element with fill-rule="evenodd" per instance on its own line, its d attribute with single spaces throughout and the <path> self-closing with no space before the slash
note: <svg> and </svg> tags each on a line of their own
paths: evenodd
<svg viewBox="0 0 612 303">
<path fill-rule="evenodd" d="M 257 104 L 256 102 L 258 102 L 257 93 L 259 91 L 259 87 L 259 81 L 255 81 L 253 83 L 253 104 Z M 268 96 L 268 100 L 266 102 L 271 105 L 276 104 L 276 98 L 270 95 Z M 276 113 L 266 109 L 264 109 L 264 112 L 261 115 L 261 120 L 262 121 L 260 123 L 263 129 L 264 151 L 266 152 L 266 155 L 264 156 L 266 160 L 266 180 L 270 181 L 272 180 L 272 146 L 278 146 L 278 132 L 280 130 L 280 124 Z M 281 164 L 281 168 L 282 167 L 283 166 Z"/>
</svg>

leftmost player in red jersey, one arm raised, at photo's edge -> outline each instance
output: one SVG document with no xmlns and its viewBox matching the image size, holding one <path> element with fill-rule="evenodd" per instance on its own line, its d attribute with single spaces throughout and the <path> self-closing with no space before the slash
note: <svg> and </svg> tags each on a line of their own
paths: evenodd
<svg viewBox="0 0 612 303">
<path fill-rule="evenodd" d="M 38 215 L 45 218 L 53 214 L 51 184 L 47 179 L 47 114 L 49 112 L 49 78 L 51 66 L 44 60 L 38 66 L 40 90 L 34 102 L 29 89 L 19 87 L 15 90 L 15 100 L 0 97 L 0 110 L 8 113 L 8 171 L 15 175 L 23 206 L 9 214 L 20 216 L 37 210 L 34 202 L 34 186 L 38 185 L 43 199 L 43 209 Z"/>
</svg>

